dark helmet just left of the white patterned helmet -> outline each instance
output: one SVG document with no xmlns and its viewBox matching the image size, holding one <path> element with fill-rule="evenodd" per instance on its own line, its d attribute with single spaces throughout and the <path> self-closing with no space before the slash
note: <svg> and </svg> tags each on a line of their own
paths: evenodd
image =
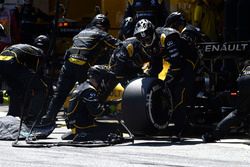
<svg viewBox="0 0 250 167">
<path fill-rule="evenodd" d="M 125 38 L 132 37 L 134 32 L 134 26 L 135 26 L 134 19 L 132 17 L 126 17 L 122 21 L 122 26 L 121 26 L 122 35 L 125 36 Z"/>
</svg>

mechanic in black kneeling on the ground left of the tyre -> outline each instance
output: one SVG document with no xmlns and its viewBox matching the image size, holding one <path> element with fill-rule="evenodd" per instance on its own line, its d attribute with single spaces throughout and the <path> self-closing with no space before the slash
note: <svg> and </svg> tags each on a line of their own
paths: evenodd
<svg viewBox="0 0 250 167">
<path fill-rule="evenodd" d="M 74 90 L 66 113 L 66 124 L 71 133 L 63 139 L 73 141 L 106 140 L 102 127 L 96 124 L 95 118 L 108 114 L 109 109 L 100 94 L 109 81 L 114 80 L 114 74 L 105 66 L 95 65 L 88 70 L 88 79 Z"/>
</svg>

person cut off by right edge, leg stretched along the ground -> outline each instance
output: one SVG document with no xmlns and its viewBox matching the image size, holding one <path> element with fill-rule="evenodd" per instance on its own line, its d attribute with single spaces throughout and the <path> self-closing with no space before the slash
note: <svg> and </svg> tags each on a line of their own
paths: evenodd
<svg viewBox="0 0 250 167">
<path fill-rule="evenodd" d="M 236 109 L 223 118 L 213 132 L 202 135 L 203 142 L 216 142 L 224 138 L 232 126 L 238 125 L 247 119 L 250 114 L 250 62 L 246 62 L 241 74 L 237 79 L 238 99 Z M 249 129 L 249 123 L 247 125 Z"/>
</svg>

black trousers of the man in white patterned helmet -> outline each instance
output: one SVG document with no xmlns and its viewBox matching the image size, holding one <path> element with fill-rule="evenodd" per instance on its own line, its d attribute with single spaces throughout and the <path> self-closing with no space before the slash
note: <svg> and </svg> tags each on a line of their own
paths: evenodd
<svg viewBox="0 0 250 167">
<path fill-rule="evenodd" d="M 194 100 L 194 77 L 193 69 L 189 64 L 180 72 L 170 70 L 166 76 L 165 84 L 170 89 L 173 98 L 172 120 L 175 124 L 173 135 L 181 135 L 186 126 L 186 106 L 192 104 Z"/>
</svg>

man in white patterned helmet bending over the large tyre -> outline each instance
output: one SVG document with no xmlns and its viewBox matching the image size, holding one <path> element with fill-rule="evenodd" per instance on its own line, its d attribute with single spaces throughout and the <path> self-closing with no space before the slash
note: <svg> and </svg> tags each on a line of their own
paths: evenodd
<svg viewBox="0 0 250 167">
<path fill-rule="evenodd" d="M 174 104 L 172 121 L 175 123 L 175 129 L 172 141 L 180 141 L 186 125 L 186 105 L 193 100 L 197 52 L 190 47 L 188 41 L 180 37 L 180 33 L 176 30 L 155 29 L 154 25 L 146 19 L 136 23 L 134 35 L 141 41 L 145 52 L 156 57 L 155 61 L 165 59 L 170 63 L 164 82 L 172 93 Z"/>
</svg>

